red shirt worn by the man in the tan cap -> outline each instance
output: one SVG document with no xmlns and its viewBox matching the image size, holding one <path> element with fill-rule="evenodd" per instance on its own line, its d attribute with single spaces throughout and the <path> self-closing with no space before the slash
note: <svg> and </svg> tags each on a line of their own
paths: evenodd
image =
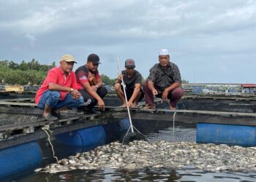
<svg viewBox="0 0 256 182">
<path fill-rule="evenodd" d="M 55 83 L 55 84 L 61 85 L 62 87 L 71 87 L 73 89 L 77 89 L 77 82 L 75 79 L 74 71 L 71 71 L 65 79 L 64 73 L 61 71 L 60 67 L 51 68 L 50 71 L 48 72 L 48 75 L 45 78 L 45 81 L 42 83 L 42 86 L 37 91 L 36 97 L 34 98 L 34 100 L 37 104 L 39 103 L 39 100 L 40 100 L 42 94 L 48 90 L 49 83 Z M 69 92 L 61 91 L 60 92 L 60 94 L 61 94 L 60 100 L 64 100 L 67 93 L 69 93 Z"/>
</svg>

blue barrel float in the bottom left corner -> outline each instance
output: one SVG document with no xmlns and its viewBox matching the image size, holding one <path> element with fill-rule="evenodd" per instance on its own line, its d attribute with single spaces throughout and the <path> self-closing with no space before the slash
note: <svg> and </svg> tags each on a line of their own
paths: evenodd
<svg viewBox="0 0 256 182">
<path fill-rule="evenodd" d="M 0 181 L 33 171 L 42 161 L 42 151 L 36 141 L 0 150 Z"/>
</svg>

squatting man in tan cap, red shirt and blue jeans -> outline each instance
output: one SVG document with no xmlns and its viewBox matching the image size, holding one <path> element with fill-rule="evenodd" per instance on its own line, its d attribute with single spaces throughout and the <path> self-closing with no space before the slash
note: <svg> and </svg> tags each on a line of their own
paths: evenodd
<svg viewBox="0 0 256 182">
<path fill-rule="evenodd" d="M 83 105 L 83 97 L 77 90 L 75 73 L 72 71 L 75 60 L 72 55 L 63 55 L 60 66 L 51 68 L 42 86 L 37 91 L 35 102 L 44 109 L 43 118 L 56 120 L 59 111 Z"/>
</svg>

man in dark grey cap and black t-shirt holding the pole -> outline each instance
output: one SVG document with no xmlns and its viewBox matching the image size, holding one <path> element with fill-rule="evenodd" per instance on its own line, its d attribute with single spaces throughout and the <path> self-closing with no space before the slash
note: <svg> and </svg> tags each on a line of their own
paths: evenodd
<svg viewBox="0 0 256 182">
<path fill-rule="evenodd" d="M 121 74 L 117 78 L 115 84 L 116 94 L 123 102 L 121 107 L 126 107 L 128 102 L 129 107 L 138 108 L 138 102 L 144 97 L 144 93 L 141 89 L 142 76 L 135 70 L 135 61 L 132 59 L 125 61 L 125 68 L 126 70 L 121 71 Z M 121 79 L 124 80 L 127 102 L 124 96 L 124 88 L 121 86 Z"/>
</svg>

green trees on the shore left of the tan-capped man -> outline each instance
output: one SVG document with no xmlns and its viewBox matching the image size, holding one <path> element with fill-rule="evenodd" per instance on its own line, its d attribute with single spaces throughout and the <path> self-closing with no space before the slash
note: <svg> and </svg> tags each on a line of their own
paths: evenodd
<svg viewBox="0 0 256 182">
<path fill-rule="evenodd" d="M 40 65 L 32 59 L 29 63 L 22 61 L 20 64 L 13 61 L 0 61 L 0 82 L 4 84 L 42 84 L 52 66 Z"/>
</svg>

